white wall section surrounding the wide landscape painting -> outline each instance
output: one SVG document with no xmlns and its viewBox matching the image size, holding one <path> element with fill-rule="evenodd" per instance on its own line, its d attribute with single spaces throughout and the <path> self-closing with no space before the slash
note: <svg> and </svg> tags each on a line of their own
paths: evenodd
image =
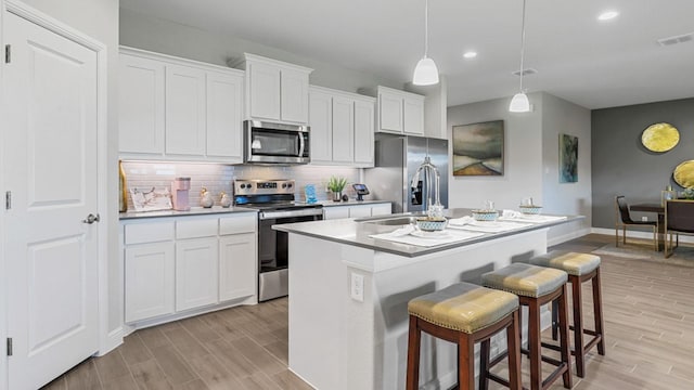
<svg viewBox="0 0 694 390">
<path fill-rule="evenodd" d="M 542 203 L 542 113 L 539 93 L 529 95 L 535 112 L 509 113 L 510 98 L 465 104 L 448 108 L 448 139 L 452 128 L 503 119 L 504 173 L 501 177 L 449 178 L 449 207 L 480 208 L 487 199 L 497 209 L 517 209 L 523 197 Z M 449 143 L 450 144 L 450 143 Z M 450 145 L 449 147 L 452 147 Z"/>
</svg>

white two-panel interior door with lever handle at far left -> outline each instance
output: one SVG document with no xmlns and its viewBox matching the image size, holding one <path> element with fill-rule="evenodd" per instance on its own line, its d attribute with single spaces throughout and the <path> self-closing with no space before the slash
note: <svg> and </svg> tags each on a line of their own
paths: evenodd
<svg viewBox="0 0 694 390">
<path fill-rule="evenodd" d="M 3 28 L 9 388 L 36 389 L 99 347 L 97 53 L 12 13 Z"/>
</svg>

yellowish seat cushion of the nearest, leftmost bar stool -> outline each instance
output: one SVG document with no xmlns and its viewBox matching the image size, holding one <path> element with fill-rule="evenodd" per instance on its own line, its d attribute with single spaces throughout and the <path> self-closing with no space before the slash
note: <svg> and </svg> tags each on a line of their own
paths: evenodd
<svg viewBox="0 0 694 390">
<path fill-rule="evenodd" d="M 412 299 L 411 315 L 453 330 L 473 334 L 518 309 L 518 297 L 470 283 L 457 283 Z"/>
</svg>

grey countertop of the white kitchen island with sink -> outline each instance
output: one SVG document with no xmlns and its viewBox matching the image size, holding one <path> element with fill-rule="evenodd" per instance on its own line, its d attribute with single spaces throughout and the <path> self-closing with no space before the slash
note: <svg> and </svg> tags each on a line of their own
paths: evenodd
<svg viewBox="0 0 694 390">
<path fill-rule="evenodd" d="M 466 208 L 455 208 L 455 209 L 447 209 L 445 210 L 445 216 L 449 219 L 461 218 L 465 216 L 470 216 L 472 209 Z M 529 232 L 535 230 L 541 230 L 551 227 L 554 225 L 568 223 L 577 220 L 581 220 L 583 216 L 566 216 L 566 218 L 550 221 L 550 222 L 534 222 L 528 223 L 524 227 L 518 227 L 510 231 L 499 232 L 499 233 L 484 233 L 479 236 L 457 240 L 452 243 L 444 243 L 436 246 L 417 246 L 411 244 L 402 244 L 384 239 L 372 238 L 372 235 L 383 234 L 393 232 L 402 225 L 387 225 L 387 224 L 378 224 L 374 223 L 375 221 L 385 220 L 385 219 L 397 219 L 399 217 L 416 217 L 412 213 L 401 213 L 401 214 L 390 214 L 390 216 L 380 216 L 373 218 L 361 218 L 361 219 L 339 219 L 339 220 L 327 220 L 327 221 L 314 221 L 314 222 L 300 222 L 300 223 L 286 223 L 274 225 L 272 229 L 286 232 L 286 233 L 295 233 L 300 235 L 306 235 L 314 238 L 322 238 L 325 240 L 331 240 L 340 244 L 348 244 L 357 247 L 373 249 L 383 252 L 389 252 L 399 256 L 406 257 L 417 257 L 423 255 L 429 255 L 434 252 L 438 252 L 446 249 L 451 249 L 460 246 L 481 243 L 486 240 L 491 240 L 504 236 L 510 236 L 523 232 Z M 560 217 L 560 216 L 556 216 Z M 562 216 L 564 217 L 564 216 Z"/>
</svg>

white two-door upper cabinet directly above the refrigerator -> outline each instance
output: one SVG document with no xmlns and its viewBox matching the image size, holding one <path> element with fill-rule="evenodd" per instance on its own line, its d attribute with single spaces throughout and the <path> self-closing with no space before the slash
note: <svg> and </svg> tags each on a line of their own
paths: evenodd
<svg viewBox="0 0 694 390">
<path fill-rule="evenodd" d="M 424 96 L 416 93 L 378 87 L 378 132 L 424 135 Z"/>
</svg>

